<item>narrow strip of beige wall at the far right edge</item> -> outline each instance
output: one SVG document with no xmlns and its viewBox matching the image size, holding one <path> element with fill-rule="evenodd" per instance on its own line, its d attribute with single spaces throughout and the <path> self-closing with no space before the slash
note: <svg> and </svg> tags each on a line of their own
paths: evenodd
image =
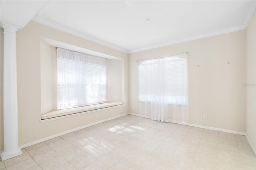
<svg viewBox="0 0 256 170">
<path fill-rule="evenodd" d="M 256 12 L 246 29 L 246 134 L 256 151 Z"/>
</svg>

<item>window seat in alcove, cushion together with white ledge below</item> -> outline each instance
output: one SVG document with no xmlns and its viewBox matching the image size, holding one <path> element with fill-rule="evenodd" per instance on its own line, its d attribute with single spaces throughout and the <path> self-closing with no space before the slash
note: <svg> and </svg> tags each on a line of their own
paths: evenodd
<svg viewBox="0 0 256 170">
<path fill-rule="evenodd" d="M 48 113 L 45 113 L 41 115 L 41 121 L 40 122 L 46 122 L 46 121 L 52 121 L 56 119 L 61 119 L 65 117 L 70 117 L 74 115 L 80 115 L 84 113 L 90 113 L 92 111 L 102 110 L 102 109 L 108 109 L 109 107 L 115 107 L 119 105 L 123 105 L 122 102 L 109 102 L 109 103 L 101 103 L 96 105 L 90 105 L 90 106 L 83 106 L 83 107 L 75 107 L 70 109 L 62 109 L 57 111 L 51 111 Z"/>
</svg>

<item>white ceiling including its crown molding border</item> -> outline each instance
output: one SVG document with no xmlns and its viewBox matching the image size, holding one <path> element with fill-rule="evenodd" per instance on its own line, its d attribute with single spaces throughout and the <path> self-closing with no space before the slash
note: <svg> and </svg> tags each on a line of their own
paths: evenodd
<svg viewBox="0 0 256 170">
<path fill-rule="evenodd" d="M 47 1 L 32 20 L 133 53 L 245 29 L 254 9 L 255 0 Z"/>
</svg>

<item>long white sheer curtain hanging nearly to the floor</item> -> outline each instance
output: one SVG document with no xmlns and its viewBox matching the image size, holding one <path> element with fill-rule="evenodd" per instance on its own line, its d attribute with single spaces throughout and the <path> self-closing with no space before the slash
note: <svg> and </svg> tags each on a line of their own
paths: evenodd
<svg viewBox="0 0 256 170">
<path fill-rule="evenodd" d="M 140 116 L 186 124 L 187 54 L 139 61 Z"/>
</svg>

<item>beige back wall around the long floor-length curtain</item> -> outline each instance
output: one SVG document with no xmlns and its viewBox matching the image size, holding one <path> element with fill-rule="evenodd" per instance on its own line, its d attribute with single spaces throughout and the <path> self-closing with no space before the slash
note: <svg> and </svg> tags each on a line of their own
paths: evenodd
<svg viewBox="0 0 256 170">
<path fill-rule="evenodd" d="M 245 132 L 246 30 L 129 54 L 129 112 L 139 113 L 136 60 L 185 52 L 188 123 Z"/>
</svg>

